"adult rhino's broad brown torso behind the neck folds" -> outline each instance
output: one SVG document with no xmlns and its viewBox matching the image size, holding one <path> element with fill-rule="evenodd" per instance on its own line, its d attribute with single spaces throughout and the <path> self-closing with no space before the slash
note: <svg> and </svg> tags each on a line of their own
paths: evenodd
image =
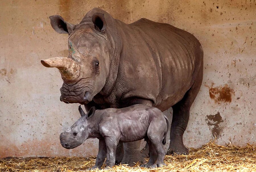
<svg viewBox="0 0 256 172">
<path fill-rule="evenodd" d="M 132 24 L 116 20 L 123 42 L 119 68 L 128 88 L 162 111 L 182 99 L 203 64 L 199 41 L 169 24 L 140 19 Z M 136 82 L 134 82 L 136 80 Z"/>
</svg>

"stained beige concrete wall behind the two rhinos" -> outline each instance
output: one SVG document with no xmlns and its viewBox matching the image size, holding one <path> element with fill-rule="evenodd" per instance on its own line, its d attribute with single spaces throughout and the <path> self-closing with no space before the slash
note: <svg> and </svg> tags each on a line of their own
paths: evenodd
<svg viewBox="0 0 256 172">
<path fill-rule="evenodd" d="M 59 101 L 57 69 L 40 60 L 67 56 L 67 35 L 56 33 L 48 16 L 78 23 L 94 7 L 126 23 L 140 18 L 193 33 L 204 49 L 204 79 L 191 107 L 185 145 L 256 143 L 255 1 L 1 1 L 0 157 L 89 156 L 97 140 L 73 150 L 59 133 L 79 118 L 77 104 Z M 172 109 L 165 112 L 172 118 Z M 168 144 L 167 144 L 168 146 Z"/>
</svg>

